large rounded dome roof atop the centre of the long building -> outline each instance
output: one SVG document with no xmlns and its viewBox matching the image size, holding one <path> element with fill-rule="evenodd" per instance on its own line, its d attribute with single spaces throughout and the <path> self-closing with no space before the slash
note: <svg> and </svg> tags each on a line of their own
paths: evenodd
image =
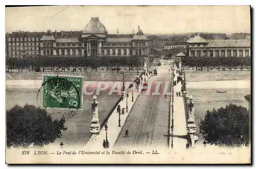
<svg viewBox="0 0 256 169">
<path fill-rule="evenodd" d="M 89 23 L 83 29 L 83 34 L 105 34 L 105 26 L 99 21 L 98 17 L 91 17 Z"/>
</svg>

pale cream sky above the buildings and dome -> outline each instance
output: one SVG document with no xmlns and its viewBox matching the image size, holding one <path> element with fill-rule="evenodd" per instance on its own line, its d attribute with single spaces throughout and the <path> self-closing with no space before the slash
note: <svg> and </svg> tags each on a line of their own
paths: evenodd
<svg viewBox="0 0 256 169">
<path fill-rule="evenodd" d="M 81 31 L 99 17 L 109 34 L 250 33 L 249 6 L 45 6 L 6 8 L 6 33 Z"/>
</svg>

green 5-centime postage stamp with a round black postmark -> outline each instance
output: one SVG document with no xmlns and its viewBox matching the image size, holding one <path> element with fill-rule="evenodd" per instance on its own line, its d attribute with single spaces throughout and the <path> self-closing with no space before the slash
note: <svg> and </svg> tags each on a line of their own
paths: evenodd
<svg viewBox="0 0 256 169">
<path fill-rule="evenodd" d="M 82 109 L 82 85 L 82 76 L 43 75 L 41 106 L 55 109 Z"/>
</svg>

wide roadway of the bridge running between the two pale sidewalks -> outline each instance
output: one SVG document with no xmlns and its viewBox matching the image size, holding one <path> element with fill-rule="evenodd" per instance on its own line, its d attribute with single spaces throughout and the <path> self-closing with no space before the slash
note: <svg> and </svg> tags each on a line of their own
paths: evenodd
<svg viewBox="0 0 256 169">
<path fill-rule="evenodd" d="M 127 117 L 121 132 L 118 135 L 114 147 L 151 147 L 168 148 L 169 140 L 169 102 L 170 95 L 163 93 L 167 88 L 170 93 L 171 72 L 169 65 L 160 66 L 158 75 L 151 76 L 148 84 L 152 83 L 149 95 L 142 92 L 137 98 L 129 116 Z M 152 95 L 157 88 L 153 85 L 161 81 L 159 95 Z M 165 82 L 167 85 L 165 86 Z M 167 87 L 168 86 L 168 87 Z M 125 137 L 125 130 L 129 130 L 129 137 Z"/>
</svg>

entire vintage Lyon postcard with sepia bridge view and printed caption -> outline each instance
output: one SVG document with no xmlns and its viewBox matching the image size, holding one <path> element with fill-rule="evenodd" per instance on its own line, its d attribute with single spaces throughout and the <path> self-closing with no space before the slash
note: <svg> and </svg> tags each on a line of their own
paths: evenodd
<svg viewBox="0 0 256 169">
<path fill-rule="evenodd" d="M 251 163 L 250 6 L 5 10 L 6 163 Z"/>
</svg>

